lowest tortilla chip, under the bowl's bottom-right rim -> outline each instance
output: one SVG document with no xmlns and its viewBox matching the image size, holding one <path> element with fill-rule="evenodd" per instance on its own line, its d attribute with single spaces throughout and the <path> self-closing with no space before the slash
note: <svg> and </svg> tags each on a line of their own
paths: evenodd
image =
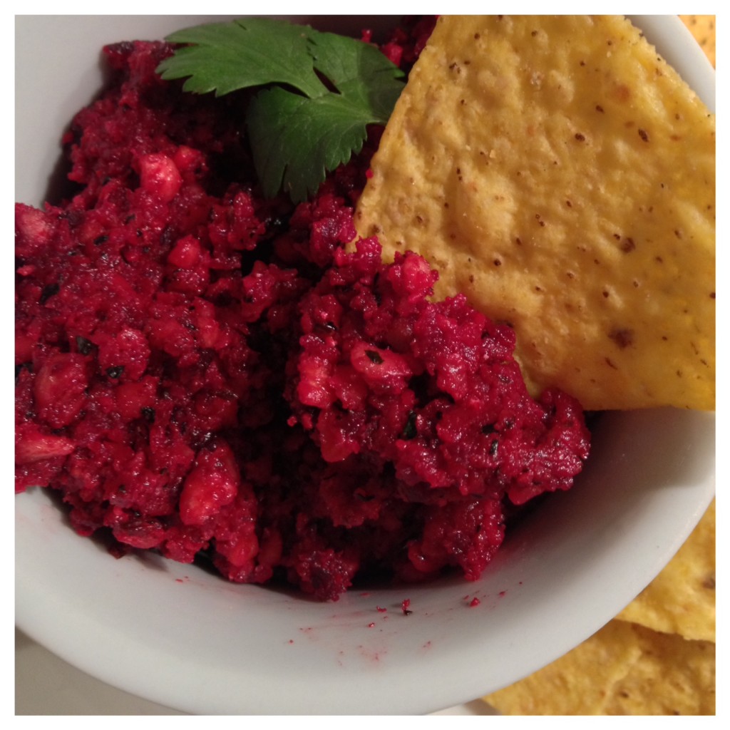
<svg viewBox="0 0 730 730">
<path fill-rule="evenodd" d="M 611 621 L 484 699 L 503 715 L 712 715 L 715 645 Z"/>
</svg>

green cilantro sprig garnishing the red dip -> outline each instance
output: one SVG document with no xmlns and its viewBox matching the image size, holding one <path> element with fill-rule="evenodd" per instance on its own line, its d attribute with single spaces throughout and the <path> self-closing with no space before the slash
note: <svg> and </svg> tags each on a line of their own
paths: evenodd
<svg viewBox="0 0 730 730">
<path fill-rule="evenodd" d="M 176 31 L 181 44 L 158 72 L 185 78 L 183 91 L 261 87 L 245 120 L 264 195 L 295 202 L 315 193 L 328 171 L 358 153 L 366 126 L 385 124 L 404 74 L 376 47 L 271 18 L 242 18 Z"/>
</svg>

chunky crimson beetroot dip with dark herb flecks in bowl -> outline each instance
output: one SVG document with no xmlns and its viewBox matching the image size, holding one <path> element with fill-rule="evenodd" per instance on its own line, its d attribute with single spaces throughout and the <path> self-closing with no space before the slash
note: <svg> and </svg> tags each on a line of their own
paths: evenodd
<svg viewBox="0 0 730 730">
<path fill-rule="evenodd" d="M 383 50 L 408 69 L 432 22 Z M 294 207 L 258 191 L 246 93 L 180 91 L 161 42 L 64 137 L 63 201 L 16 206 L 16 491 L 49 487 L 112 554 L 205 561 L 332 600 L 356 575 L 476 579 L 511 505 L 588 456 L 574 399 L 528 395 L 514 334 L 423 258 L 356 250 L 380 129 Z"/>
</svg>

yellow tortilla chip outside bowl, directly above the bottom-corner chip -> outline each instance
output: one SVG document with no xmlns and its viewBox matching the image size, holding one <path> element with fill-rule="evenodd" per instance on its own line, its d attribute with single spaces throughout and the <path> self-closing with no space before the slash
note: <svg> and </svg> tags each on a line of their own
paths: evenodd
<svg viewBox="0 0 730 730">
<path fill-rule="evenodd" d="M 617 618 L 715 641 L 715 502 L 662 572 Z"/>
</svg>

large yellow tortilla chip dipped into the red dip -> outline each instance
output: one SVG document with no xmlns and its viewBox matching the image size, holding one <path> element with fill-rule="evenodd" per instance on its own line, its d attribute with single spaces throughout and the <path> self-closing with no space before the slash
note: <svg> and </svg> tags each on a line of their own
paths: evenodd
<svg viewBox="0 0 730 730">
<path fill-rule="evenodd" d="M 439 18 L 356 226 L 512 324 L 534 395 L 714 408 L 715 118 L 625 18 Z"/>
</svg>

